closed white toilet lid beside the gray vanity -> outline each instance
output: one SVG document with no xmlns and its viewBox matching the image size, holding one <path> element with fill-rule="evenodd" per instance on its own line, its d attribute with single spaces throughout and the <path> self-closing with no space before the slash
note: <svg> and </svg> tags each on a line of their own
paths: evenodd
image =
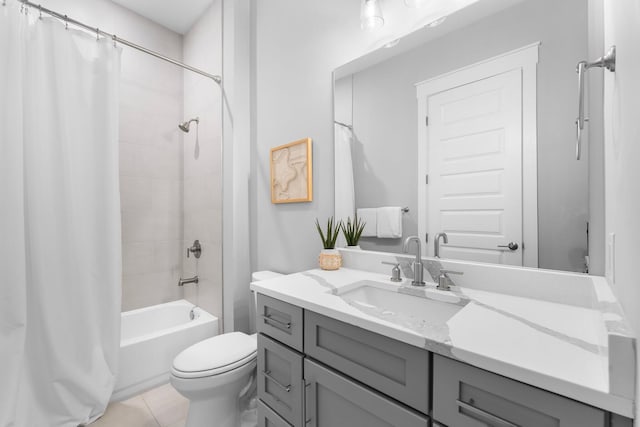
<svg viewBox="0 0 640 427">
<path fill-rule="evenodd" d="M 222 374 L 253 360 L 256 349 L 255 337 L 242 332 L 218 335 L 183 350 L 173 360 L 173 370 L 189 377 Z"/>
</svg>

